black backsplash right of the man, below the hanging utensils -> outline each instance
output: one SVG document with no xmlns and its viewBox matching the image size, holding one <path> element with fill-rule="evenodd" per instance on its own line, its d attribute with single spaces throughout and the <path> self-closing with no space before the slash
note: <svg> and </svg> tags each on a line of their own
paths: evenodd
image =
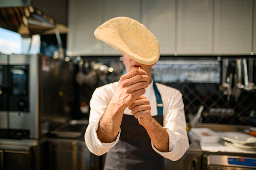
<svg viewBox="0 0 256 170">
<path fill-rule="evenodd" d="M 237 102 L 233 96 L 227 101 L 227 96 L 218 89 L 217 83 L 166 83 L 183 94 L 186 115 L 196 114 L 201 105 L 204 123 L 242 124 L 256 126 L 256 98 L 255 92 L 241 92 Z M 234 113 L 213 114 L 212 108 L 234 109 Z M 254 113 L 254 116 L 252 115 Z"/>
</svg>

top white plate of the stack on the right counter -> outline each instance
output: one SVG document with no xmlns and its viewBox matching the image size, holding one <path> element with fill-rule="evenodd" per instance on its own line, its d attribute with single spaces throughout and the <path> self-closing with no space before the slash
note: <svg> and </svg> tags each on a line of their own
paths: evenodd
<svg viewBox="0 0 256 170">
<path fill-rule="evenodd" d="M 221 138 L 237 143 L 255 143 L 256 137 L 241 132 L 223 132 Z"/>
</svg>

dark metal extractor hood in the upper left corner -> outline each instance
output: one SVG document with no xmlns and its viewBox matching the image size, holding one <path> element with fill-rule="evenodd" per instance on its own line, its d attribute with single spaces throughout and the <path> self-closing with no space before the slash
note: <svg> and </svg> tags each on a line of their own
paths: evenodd
<svg viewBox="0 0 256 170">
<path fill-rule="evenodd" d="M 40 34 L 67 33 L 67 1 L 2 0 L 0 27 L 23 37 Z"/>
</svg>

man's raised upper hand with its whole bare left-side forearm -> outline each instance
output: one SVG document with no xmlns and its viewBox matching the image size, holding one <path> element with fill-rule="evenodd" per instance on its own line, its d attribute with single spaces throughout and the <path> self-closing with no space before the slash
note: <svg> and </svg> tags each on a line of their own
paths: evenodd
<svg viewBox="0 0 256 170">
<path fill-rule="evenodd" d="M 117 89 L 99 123 L 97 135 L 101 142 L 115 141 L 125 108 L 146 92 L 148 81 L 147 73 L 141 69 L 132 70 L 120 78 Z"/>
</svg>

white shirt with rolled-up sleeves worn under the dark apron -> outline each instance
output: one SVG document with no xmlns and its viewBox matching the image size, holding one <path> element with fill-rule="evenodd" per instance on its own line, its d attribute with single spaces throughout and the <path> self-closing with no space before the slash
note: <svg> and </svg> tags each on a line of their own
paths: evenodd
<svg viewBox="0 0 256 170">
<path fill-rule="evenodd" d="M 111 143 L 102 143 L 96 133 L 99 121 L 111 97 L 114 95 L 117 85 L 118 82 L 115 82 L 97 88 L 90 101 L 89 125 L 84 138 L 88 149 L 96 155 L 102 155 L 111 149 L 119 141 L 120 133 L 122 133 L 121 129 L 119 129 L 116 140 Z M 152 141 L 151 145 L 163 157 L 170 160 L 178 160 L 189 147 L 182 94 L 179 90 L 160 83 L 156 83 L 156 86 L 163 102 L 163 128 L 166 129 L 169 135 L 169 152 L 160 152 L 154 147 Z M 146 93 L 143 96 L 150 101 L 151 116 L 157 115 L 153 82 L 146 88 Z M 132 115 L 131 110 L 128 108 L 125 109 L 124 114 Z"/>
</svg>

